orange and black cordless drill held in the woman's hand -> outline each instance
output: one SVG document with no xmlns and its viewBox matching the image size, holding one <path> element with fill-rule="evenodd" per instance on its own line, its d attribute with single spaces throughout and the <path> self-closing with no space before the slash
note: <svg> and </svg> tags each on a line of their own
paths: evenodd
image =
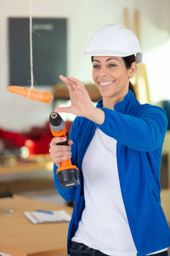
<svg viewBox="0 0 170 256">
<path fill-rule="evenodd" d="M 68 138 L 67 126 L 62 117 L 53 112 L 49 118 L 50 129 L 53 137 Z M 67 141 L 57 143 L 57 145 L 68 145 Z M 79 169 L 71 164 L 71 160 L 66 160 L 61 163 L 61 167 L 57 169 L 57 177 L 62 188 L 68 188 L 79 185 Z"/>
</svg>

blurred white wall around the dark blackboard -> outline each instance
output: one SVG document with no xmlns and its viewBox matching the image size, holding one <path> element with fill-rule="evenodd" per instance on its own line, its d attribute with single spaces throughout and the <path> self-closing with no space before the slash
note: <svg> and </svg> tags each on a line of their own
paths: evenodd
<svg viewBox="0 0 170 256">
<path fill-rule="evenodd" d="M 145 12 L 146 2 L 148 4 L 149 1 L 32 0 L 32 13 L 33 17 L 68 18 L 68 76 L 91 82 L 91 61 L 90 58 L 83 58 L 82 54 L 97 29 L 106 23 L 123 23 L 124 7 L 128 7 L 131 14 L 133 8 L 140 8 L 141 42 L 144 52 L 167 41 L 167 32 L 159 30 L 150 20 L 148 12 Z M 158 8 L 159 1 L 154 0 L 154 9 Z M 150 12 L 153 12 L 153 9 Z M 8 17 L 28 16 L 29 0 L 0 0 L 0 128 L 15 131 L 28 130 L 32 125 L 43 125 L 53 111 L 52 105 L 34 102 L 7 91 Z M 42 89 L 51 90 L 48 87 L 40 88 Z"/>
</svg>

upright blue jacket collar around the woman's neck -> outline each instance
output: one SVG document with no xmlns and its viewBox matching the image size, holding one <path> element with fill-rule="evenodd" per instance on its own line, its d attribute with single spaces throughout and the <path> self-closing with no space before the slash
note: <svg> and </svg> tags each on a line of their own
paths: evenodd
<svg viewBox="0 0 170 256">
<path fill-rule="evenodd" d="M 114 105 L 114 110 L 122 114 L 125 114 L 125 113 L 128 114 L 136 104 L 140 104 L 140 103 L 135 98 L 134 93 L 129 89 L 124 99 L 121 102 L 117 102 Z M 102 107 L 103 107 L 103 100 L 100 99 L 97 102 L 96 108 L 102 108 Z"/>
</svg>

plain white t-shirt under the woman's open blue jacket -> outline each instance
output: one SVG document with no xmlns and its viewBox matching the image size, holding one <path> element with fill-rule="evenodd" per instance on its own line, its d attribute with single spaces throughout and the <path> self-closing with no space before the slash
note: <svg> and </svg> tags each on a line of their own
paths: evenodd
<svg viewBox="0 0 170 256">
<path fill-rule="evenodd" d="M 85 209 L 72 241 L 111 256 L 136 256 L 120 189 L 116 143 L 96 128 L 82 162 Z"/>
</svg>

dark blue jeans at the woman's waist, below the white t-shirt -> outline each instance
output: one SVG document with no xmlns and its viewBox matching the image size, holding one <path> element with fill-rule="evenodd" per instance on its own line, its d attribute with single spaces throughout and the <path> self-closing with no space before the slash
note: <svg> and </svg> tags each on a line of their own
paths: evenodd
<svg viewBox="0 0 170 256">
<path fill-rule="evenodd" d="M 85 244 L 80 244 L 77 242 L 71 243 L 70 256 L 108 256 L 99 250 L 94 250 Z M 168 252 L 164 251 L 162 253 L 156 253 L 153 256 L 168 256 Z"/>
</svg>

